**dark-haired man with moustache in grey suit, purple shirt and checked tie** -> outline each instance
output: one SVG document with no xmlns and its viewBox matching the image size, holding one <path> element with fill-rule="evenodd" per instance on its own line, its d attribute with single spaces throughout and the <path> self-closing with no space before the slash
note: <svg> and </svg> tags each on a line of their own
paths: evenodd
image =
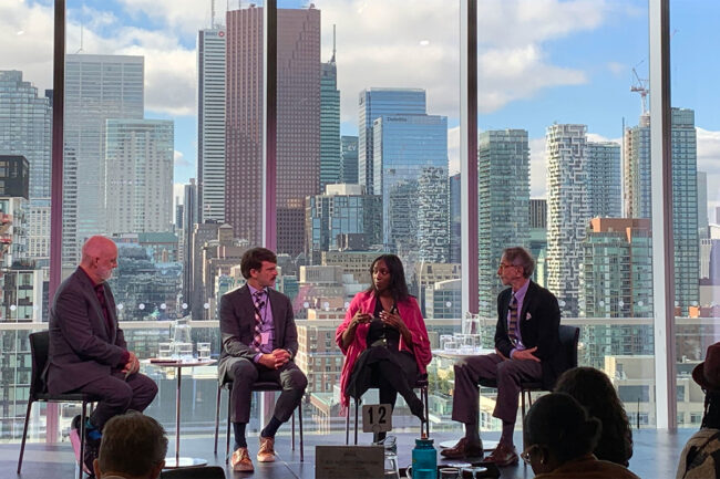
<svg viewBox="0 0 720 479">
<path fill-rule="evenodd" d="M 235 471 L 254 470 L 245 438 L 253 384 L 272 381 L 282 386 L 272 417 L 260 431 L 260 462 L 275 460 L 275 434 L 300 404 L 308 384 L 292 361 L 298 352 L 292 304 L 288 296 L 272 289 L 276 265 L 277 257 L 266 248 L 246 251 L 240 271 L 247 284 L 220 299 L 223 351 L 218 377 L 220 384 L 233 382 L 230 421 L 235 447 L 230 465 Z"/>
</svg>

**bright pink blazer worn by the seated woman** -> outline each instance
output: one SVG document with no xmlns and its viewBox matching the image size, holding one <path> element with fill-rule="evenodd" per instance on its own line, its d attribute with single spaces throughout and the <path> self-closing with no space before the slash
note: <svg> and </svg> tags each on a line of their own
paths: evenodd
<svg viewBox="0 0 720 479">
<path fill-rule="evenodd" d="M 366 339 L 370 324 L 359 324 L 356 329 L 354 340 L 348 347 L 342 347 L 342 333 L 348 329 L 352 321 L 352 316 L 360 310 L 363 313 L 372 314 L 376 310 L 377 298 L 372 292 L 362 291 L 354 295 L 348 312 L 344 315 L 344 321 L 338 326 L 335 332 L 335 341 L 340 346 L 340 351 L 344 354 L 344 363 L 342 364 L 342 372 L 340 374 L 340 404 L 341 410 L 344 413 L 350 404 L 350 397 L 346 394 L 344 389 L 352 373 L 352 366 L 356 360 L 367 347 Z M 418 363 L 418 372 L 425 374 L 426 366 L 432 360 L 430 352 L 430 340 L 428 339 L 428 330 L 425 329 L 425 320 L 422 317 L 420 308 L 414 298 L 409 298 L 408 301 L 398 303 L 398 312 L 400 317 L 405 323 L 412 335 L 412 348 L 404 342 L 402 335 L 400 336 L 400 350 L 413 353 L 415 362 Z"/>
</svg>

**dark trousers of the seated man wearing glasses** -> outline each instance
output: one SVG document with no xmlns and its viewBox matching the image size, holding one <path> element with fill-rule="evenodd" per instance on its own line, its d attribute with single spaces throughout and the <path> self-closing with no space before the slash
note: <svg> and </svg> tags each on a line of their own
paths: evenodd
<svg viewBox="0 0 720 479">
<path fill-rule="evenodd" d="M 493 416 L 515 424 L 521 382 L 542 381 L 543 368 L 535 361 L 503 360 L 497 354 L 465 356 L 455 363 L 453 420 L 477 424 L 481 379 L 497 382 L 497 400 Z"/>
</svg>

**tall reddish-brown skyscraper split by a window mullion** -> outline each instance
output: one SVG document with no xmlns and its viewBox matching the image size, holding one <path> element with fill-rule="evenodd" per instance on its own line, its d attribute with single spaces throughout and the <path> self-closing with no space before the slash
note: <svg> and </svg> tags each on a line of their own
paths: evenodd
<svg viewBox="0 0 720 479">
<path fill-rule="evenodd" d="M 305 244 L 305 197 L 320 190 L 320 11 L 278 9 L 277 250 Z M 227 12 L 225 220 L 263 239 L 263 8 Z"/>
</svg>

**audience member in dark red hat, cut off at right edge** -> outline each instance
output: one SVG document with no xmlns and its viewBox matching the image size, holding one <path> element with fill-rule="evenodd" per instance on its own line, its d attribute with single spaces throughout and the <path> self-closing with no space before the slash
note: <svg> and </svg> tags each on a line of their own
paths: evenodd
<svg viewBox="0 0 720 479">
<path fill-rule="evenodd" d="M 680 454 L 677 479 L 720 477 L 720 343 L 708 346 L 704 361 L 692 369 L 692 379 L 704 392 L 700 430 Z"/>
</svg>

